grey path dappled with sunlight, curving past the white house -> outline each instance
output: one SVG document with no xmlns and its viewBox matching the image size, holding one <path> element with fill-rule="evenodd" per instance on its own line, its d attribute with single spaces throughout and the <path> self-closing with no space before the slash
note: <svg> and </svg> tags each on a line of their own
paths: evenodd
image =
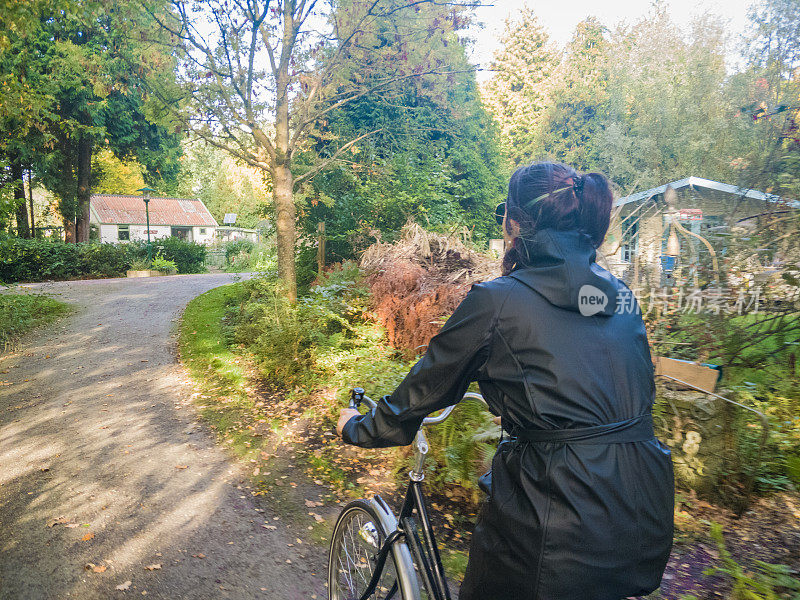
<svg viewBox="0 0 800 600">
<path fill-rule="evenodd" d="M 78 310 L 0 356 L 0 598 L 326 597 L 324 552 L 253 501 L 176 363 L 186 303 L 234 278 L 22 286 Z"/>
</svg>

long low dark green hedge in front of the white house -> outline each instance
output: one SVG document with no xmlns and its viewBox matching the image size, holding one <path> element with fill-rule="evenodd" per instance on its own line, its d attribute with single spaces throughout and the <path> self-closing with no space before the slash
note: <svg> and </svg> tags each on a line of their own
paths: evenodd
<svg viewBox="0 0 800 600">
<path fill-rule="evenodd" d="M 153 242 L 153 255 L 175 262 L 179 273 L 202 273 L 206 248 L 178 238 Z M 0 281 L 45 281 L 78 277 L 115 277 L 135 259 L 147 257 L 147 244 L 67 244 L 8 237 L 0 240 Z"/>
</svg>

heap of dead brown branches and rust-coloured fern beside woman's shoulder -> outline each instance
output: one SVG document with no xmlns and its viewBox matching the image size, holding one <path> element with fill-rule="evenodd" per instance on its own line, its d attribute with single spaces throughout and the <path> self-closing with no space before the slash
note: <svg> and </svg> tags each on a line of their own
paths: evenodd
<svg viewBox="0 0 800 600">
<path fill-rule="evenodd" d="M 473 283 L 499 275 L 496 259 L 456 235 L 432 233 L 416 223 L 406 224 L 397 242 L 367 248 L 361 267 L 374 318 L 407 357 L 424 351 Z"/>
</svg>

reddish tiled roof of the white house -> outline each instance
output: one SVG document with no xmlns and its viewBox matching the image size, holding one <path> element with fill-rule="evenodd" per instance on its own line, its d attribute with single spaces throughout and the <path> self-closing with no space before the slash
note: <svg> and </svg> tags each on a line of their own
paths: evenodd
<svg viewBox="0 0 800 600">
<path fill-rule="evenodd" d="M 144 225 L 147 222 L 141 196 L 94 194 L 91 211 L 98 223 Z M 201 200 L 150 198 L 150 225 L 216 227 L 217 222 Z"/>
</svg>

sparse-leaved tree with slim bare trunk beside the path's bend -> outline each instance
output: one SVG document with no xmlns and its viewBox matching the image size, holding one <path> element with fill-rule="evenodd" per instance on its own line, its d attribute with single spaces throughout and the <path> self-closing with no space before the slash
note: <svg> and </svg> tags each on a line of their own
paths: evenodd
<svg viewBox="0 0 800 600">
<path fill-rule="evenodd" d="M 294 173 L 309 132 L 328 115 L 398 81 L 452 69 L 426 54 L 466 24 L 461 0 L 172 0 L 152 11 L 182 44 L 183 94 L 161 89 L 200 138 L 269 173 L 279 275 L 296 297 L 294 191 L 373 132 Z M 412 62 L 411 58 L 418 60 Z"/>
</svg>

